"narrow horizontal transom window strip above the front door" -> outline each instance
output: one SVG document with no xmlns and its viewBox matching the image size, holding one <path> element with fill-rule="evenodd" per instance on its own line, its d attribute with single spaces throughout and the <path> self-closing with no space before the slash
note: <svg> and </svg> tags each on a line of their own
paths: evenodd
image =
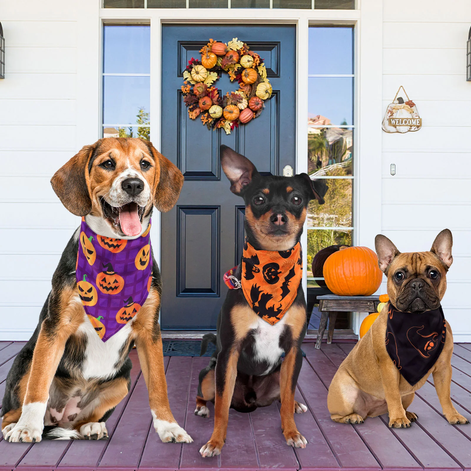
<svg viewBox="0 0 471 471">
<path fill-rule="evenodd" d="M 353 10 L 355 0 L 103 0 L 103 8 L 304 8 Z"/>
</svg>

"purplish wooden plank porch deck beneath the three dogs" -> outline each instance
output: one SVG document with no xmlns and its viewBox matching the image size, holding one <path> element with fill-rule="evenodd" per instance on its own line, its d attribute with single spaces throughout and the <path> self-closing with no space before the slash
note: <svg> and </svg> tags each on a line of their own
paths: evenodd
<svg viewBox="0 0 471 471">
<path fill-rule="evenodd" d="M 24 342 L 0 342 L 0 396 L 13 358 Z M 419 416 L 410 429 L 390 429 L 387 417 L 368 418 L 346 425 L 330 420 L 326 407 L 328 386 L 353 343 L 334 343 L 314 349 L 304 343 L 306 357 L 296 399 L 309 408 L 296 414 L 299 430 L 309 440 L 306 449 L 286 446 L 281 433 L 279 405 L 250 414 L 230 411 L 227 441 L 222 454 L 201 458 L 199 448 L 211 436 L 211 418 L 194 415 L 198 374 L 208 358 L 165 357 L 169 399 L 175 418 L 195 442 L 163 444 L 152 427 L 146 384 L 136 351 L 131 352 L 130 394 L 107 421 L 107 441 L 43 441 L 7 443 L 0 438 L 0 470 L 394 470 L 471 471 L 471 425 L 449 425 L 433 380 L 418 391 L 411 410 Z M 455 344 L 452 359 L 452 400 L 471 418 L 471 344 Z M 1 414 L 1 411 L 0 411 Z"/>
</svg>

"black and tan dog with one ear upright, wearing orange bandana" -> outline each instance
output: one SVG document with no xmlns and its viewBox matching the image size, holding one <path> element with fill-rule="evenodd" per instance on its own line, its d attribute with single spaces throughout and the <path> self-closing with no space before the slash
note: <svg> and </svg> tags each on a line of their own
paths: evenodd
<svg viewBox="0 0 471 471">
<path fill-rule="evenodd" d="M 229 147 L 221 146 L 220 154 L 231 191 L 245 202 L 244 252 L 251 246 L 266 258 L 269 253 L 265 251 L 279 254 L 283 259 L 289 257 L 300 240 L 309 201 L 317 198 L 319 203 L 324 203 L 327 187 L 323 180 L 313 183 L 305 173 L 294 177 L 262 177 L 252 162 Z M 241 279 L 243 265 L 245 280 L 253 280 L 263 272 L 268 284 L 279 285 L 283 297 L 290 291 L 295 268 L 301 270 L 301 259 L 300 256 L 294 260 L 293 268 L 282 280 L 277 264 L 259 260 L 256 253 L 248 254 L 235 270 L 235 277 Z M 279 309 L 275 306 L 267 309 L 272 295 L 261 293 L 256 284 L 250 290 L 253 309 L 243 289 L 227 293 L 219 313 L 217 336 L 209 334 L 202 343 L 202 351 L 208 341 L 217 343 L 209 366 L 200 373 L 196 398 L 196 415 L 209 417 L 206 401 L 215 404 L 214 431 L 200 449 L 202 456 L 220 454 L 226 440 L 229 407 L 250 412 L 275 400 L 281 400 L 281 426 L 286 443 L 306 446 L 307 441 L 293 418 L 294 412 L 307 410 L 294 400 L 302 362 L 300 345 L 306 333 L 306 301 L 302 286 L 293 288 L 297 293 L 292 293 L 294 300 L 283 317 L 277 315 Z M 273 325 L 265 318 L 273 319 Z"/>
</svg>

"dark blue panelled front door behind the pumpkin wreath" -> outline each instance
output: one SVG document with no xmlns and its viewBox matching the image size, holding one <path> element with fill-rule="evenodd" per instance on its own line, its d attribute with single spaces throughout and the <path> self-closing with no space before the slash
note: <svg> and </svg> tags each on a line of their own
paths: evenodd
<svg viewBox="0 0 471 471">
<path fill-rule="evenodd" d="M 216 38 L 247 42 L 260 54 L 273 87 L 262 114 L 226 135 L 191 120 L 180 90 L 188 60 Z M 239 263 L 244 202 L 229 190 L 219 146 L 248 157 L 264 175 L 295 167 L 295 52 L 293 25 L 162 25 L 162 148 L 185 183 L 175 208 L 162 213 L 162 329 L 214 329 L 227 292 L 224 272 Z M 223 94 L 238 89 L 226 73 L 214 84 Z"/>
</svg>

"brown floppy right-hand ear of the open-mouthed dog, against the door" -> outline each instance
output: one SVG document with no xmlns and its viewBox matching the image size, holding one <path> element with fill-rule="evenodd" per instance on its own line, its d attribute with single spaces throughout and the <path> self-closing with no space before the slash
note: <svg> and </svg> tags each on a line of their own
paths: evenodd
<svg viewBox="0 0 471 471">
<path fill-rule="evenodd" d="M 155 161 L 155 179 L 157 185 L 154 192 L 154 206 L 161 212 L 170 211 L 177 203 L 183 187 L 183 175 L 178 167 L 164 157 L 152 142 L 144 141 Z M 160 167 L 160 173 L 157 168 Z"/>
</svg>

